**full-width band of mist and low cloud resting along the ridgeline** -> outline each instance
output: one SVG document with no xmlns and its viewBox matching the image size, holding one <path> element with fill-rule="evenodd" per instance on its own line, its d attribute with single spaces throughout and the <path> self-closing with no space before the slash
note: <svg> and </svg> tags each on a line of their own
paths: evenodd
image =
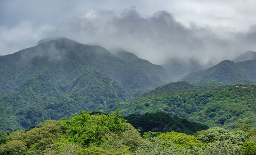
<svg viewBox="0 0 256 155">
<path fill-rule="evenodd" d="M 0 55 L 34 46 L 40 39 L 66 37 L 83 44 L 101 45 L 110 52 L 119 47 L 158 65 L 174 59 L 217 64 L 246 51 L 256 51 L 256 25 L 243 31 L 218 33 L 211 25 L 184 24 L 172 12 L 163 10 L 144 15 L 136 7 L 91 9 L 61 18 L 52 25 L 36 25 L 31 21 L 22 21 L 11 28 L 0 25 L 0 36 Z"/>
</svg>

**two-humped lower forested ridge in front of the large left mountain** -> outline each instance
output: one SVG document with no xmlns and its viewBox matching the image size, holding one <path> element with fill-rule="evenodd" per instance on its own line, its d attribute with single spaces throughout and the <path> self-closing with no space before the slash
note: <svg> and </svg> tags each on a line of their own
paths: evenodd
<svg viewBox="0 0 256 155">
<path fill-rule="evenodd" d="M 1 97 L 1 105 L 11 107 L 9 111 L 1 108 L 1 113 L 8 113 L 6 119 L 1 119 L 1 125 L 11 121 L 28 129 L 46 119 L 60 119 L 81 109 L 95 110 L 98 106 L 125 101 L 126 97 L 117 82 L 89 67 L 81 69 L 68 86 L 45 70 L 32 76 L 15 92 Z M 14 131 L 20 126 L 0 127 L 1 131 Z"/>
</svg>

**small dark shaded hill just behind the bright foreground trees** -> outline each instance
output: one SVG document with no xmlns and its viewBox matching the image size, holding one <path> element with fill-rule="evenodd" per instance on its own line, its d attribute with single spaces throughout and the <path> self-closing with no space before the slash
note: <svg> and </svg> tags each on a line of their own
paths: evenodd
<svg viewBox="0 0 256 155">
<path fill-rule="evenodd" d="M 182 132 L 193 134 L 196 131 L 206 130 L 209 127 L 196 122 L 190 122 L 187 119 L 172 117 L 166 113 L 146 113 L 144 115 L 129 115 L 124 117 L 133 127 L 144 132 Z"/>
</svg>

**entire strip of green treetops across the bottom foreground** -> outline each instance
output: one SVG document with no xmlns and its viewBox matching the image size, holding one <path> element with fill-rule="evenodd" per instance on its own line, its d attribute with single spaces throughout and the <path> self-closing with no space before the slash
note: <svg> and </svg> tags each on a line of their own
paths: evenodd
<svg viewBox="0 0 256 155">
<path fill-rule="evenodd" d="M 247 123 L 233 131 L 217 127 L 195 136 L 149 131 L 143 137 L 119 110 L 110 115 L 80 111 L 28 131 L 2 133 L 0 154 L 256 154 L 256 134 Z"/>
</svg>

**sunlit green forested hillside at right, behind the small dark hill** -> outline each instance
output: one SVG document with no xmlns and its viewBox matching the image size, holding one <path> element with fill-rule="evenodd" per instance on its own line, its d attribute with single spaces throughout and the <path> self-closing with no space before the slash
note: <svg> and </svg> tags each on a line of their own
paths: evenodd
<svg viewBox="0 0 256 155">
<path fill-rule="evenodd" d="M 157 89 L 161 92 L 161 87 Z M 165 89 L 162 94 L 155 95 L 153 90 L 127 102 L 111 103 L 97 110 L 109 112 L 120 108 L 122 115 L 165 112 L 209 127 L 220 126 L 227 129 L 247 120 L 252 127 L 256 127 L 256 85 L 183 89 L 169 93 Z"/>
</svg>

